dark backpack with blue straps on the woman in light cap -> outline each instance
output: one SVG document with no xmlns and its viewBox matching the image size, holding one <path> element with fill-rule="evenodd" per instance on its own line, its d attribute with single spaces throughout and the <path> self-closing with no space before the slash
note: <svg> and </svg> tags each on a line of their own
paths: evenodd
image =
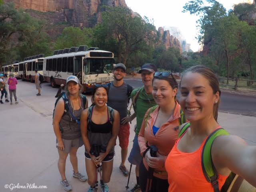
<svg viewBox="0 0 256 192">
<path fill-rule="evenodd" d="M 80 96 L 82 97 L 83 106 L 85 106 L 86 96 L 83 94 L 80 94 Z M 68 114 L 68 116 L 70 116 L 70 121 L 72 121 L 72 119 L 74 119 L 77 124 L 80 124 L 80 121 L 78 119 L 76 119 L 74 114 L 70 111 L 69 100 L 68 100 L 68 96 L 67 96 L 66 92 L 62 92 L 58 96 L 58 98 L 56 99 L 55 104 L 54 104 L 54 110 L 55 110 L 56 105 L 57 105 L 58 101 L 60 100 L 60 98 L 62 98 L 64 100 L 64 114 L 62 116 L 64 116 L 65 114 Z M 54 116 L 54 110 L 53 110 L 52 118 Z"/>
</svg>

